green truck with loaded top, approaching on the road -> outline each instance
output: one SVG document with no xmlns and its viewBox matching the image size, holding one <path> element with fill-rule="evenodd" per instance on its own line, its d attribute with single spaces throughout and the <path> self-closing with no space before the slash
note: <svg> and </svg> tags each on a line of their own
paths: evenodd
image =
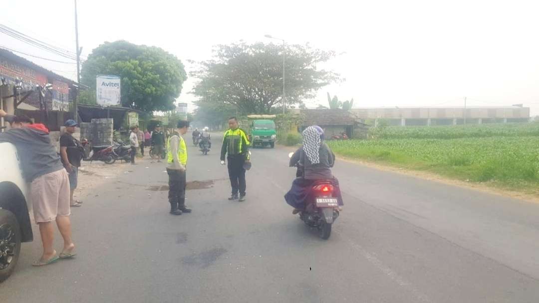
<svg viewBox="0 0 539 303">
<path fill-rule="evenodd" d="M 277 130 L 273 120 L 275 115 L 247 115 L 247 132 L 251 146 L 275 147 Z"/>
</svg>

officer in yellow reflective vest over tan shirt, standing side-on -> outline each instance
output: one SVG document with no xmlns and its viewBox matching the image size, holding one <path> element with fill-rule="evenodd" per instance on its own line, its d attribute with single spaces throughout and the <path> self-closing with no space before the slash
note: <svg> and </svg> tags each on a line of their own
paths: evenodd
<svg viewBox="0 0 539 303">
<path fill-rule="evenodd" d="M 182 135 L 187 133 L 189 121 L 178 121 L 177 129 L 167 141 L 167 174 L 169 175 L 170 214 L 191 212 L 185 206 L 187 147 Z"/>
</svg>

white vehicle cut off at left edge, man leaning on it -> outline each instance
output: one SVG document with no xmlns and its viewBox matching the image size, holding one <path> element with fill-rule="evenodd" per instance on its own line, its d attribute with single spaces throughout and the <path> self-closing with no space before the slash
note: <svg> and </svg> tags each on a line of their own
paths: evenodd
<svg viewBox="0 0 539 303">
<path fill-rule="evenodd" d="M 27 192 L 17 149 L 0 143 L 0 282 L 15 270 L 20 243 L 33 240 Z"/>
</svg>

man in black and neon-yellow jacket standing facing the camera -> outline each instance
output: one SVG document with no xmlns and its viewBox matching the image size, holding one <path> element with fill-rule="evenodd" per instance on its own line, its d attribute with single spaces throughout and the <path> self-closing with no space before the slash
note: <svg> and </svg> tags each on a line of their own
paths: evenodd
<svg viewBox="0 0 539 303">
<path fill-rule="evenodd" d="M 229 119 L 229 127 L 230 129 L 225 132 L 223 146 L 221 147 L 221 164 L 225 164 L 225 155 L 228 153 L 229 177 L 230 185 L 232 185 L 232 196 L 230 196 L 229 200 L 238 199 L 239 191 L 239 201 L 245 201 L 244 164 L 250 162 L 250 143 L 244 130 L 239 128 L 236 117 Z"/>
</svg>

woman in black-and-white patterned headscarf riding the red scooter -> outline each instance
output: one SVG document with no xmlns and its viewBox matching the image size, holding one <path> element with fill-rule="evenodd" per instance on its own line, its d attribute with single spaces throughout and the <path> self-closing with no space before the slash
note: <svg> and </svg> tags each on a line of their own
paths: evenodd
<svg viewBox="0 0 539 303">
<path fill-rule="evenodd" d="M 305 210 L 312 184 L 317 180 L 329 180 L 335 188 L 338 205 L 342 206 L 341 191 L 338 187 L 337 178 L 331 174 L 331 168 L 335 164 L 335 154 L 329 146 L 323 142 L 324 132 L 319 126 L 309 126 L 301 133 L 303 145 L 296 150 L 290 159 L 289 166 L 299 166 L 296 179 L 292 182 L 292 188 L 285 195 L 286 203 L 294 210 L 292 214 L 298 214 Z"/>
</svg>

